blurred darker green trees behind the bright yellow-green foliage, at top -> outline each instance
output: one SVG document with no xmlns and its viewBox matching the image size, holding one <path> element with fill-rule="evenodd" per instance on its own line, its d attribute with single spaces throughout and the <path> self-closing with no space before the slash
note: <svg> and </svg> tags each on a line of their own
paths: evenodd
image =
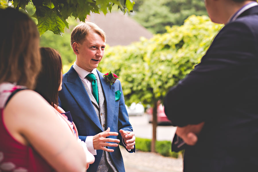
<svg viewBox="0 0 258 172">
<path fill-rule="evenodd" d="M 204 1 L 192 0 L 135 0 L 134 16 L 153 34 L 165 33 L 165 26 L 181 26 L 190 15 L 207 15 Z"/>
</svg>

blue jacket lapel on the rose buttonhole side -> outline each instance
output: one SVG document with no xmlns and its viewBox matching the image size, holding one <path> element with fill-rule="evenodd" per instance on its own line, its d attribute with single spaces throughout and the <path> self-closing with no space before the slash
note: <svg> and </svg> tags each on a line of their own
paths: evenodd
<svg viewBox="0 0 258 172">
<path fill-rule="evenodd" d="M 112 120 L 114 116 L 114 107 L 115 107 L 115 86 L 110 85 L 108 82 L 103 77 L 103 73 L 99 72 L 97 70 L 97 73 L 99 75 L 99 81 L 101 83 L 102 89 L 103 89 L 103 94 L 107 103 L 107 113 L 106 113 L 106 126 L 111 126 L 112 125 Z"/>
</svg>

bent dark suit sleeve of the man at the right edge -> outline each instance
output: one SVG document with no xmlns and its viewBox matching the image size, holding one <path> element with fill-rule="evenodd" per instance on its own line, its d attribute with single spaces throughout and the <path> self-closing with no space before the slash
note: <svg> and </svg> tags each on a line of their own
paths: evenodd
<svg viewBox="0 0 258 172">
<path fill-rule="evenodd" d="M 225 105 L 231 89 L 245 78 L 257 50 L 251 29 L 241 21 L 222 28 L 202 61 L 164 99 L 165 113 L 174 126 L 211 120 Z M 223 103 L 222 103 L 223 102 Z"/>
</svg>

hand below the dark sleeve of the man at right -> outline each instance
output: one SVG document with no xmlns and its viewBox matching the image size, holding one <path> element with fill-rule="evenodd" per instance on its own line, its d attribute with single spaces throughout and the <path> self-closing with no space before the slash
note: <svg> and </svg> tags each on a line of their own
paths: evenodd
<svg viewBox="0 0 258 172">
<path fill-rule="evenodd" d="M 200 124 L 195 124 L 195 125 L 187 125 L 184 127 L 177 127 L 176 134 L 181 137 L 184 142 L 188 145 L 195 145 L 198 138 L 197 135 L 200 133 L 202 130 L 202 127 L 204 125 L 204 122 L 201 122 Z"/>
</svg>

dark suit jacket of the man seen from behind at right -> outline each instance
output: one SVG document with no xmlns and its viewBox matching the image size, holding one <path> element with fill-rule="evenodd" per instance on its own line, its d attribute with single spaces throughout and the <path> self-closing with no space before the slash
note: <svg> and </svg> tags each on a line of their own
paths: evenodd
<svg viewBox="0 0 258 172">
<path fill-rule="evenodd" d="M 258 6 L 229 22 L 164 99 L 174 126 L 205 121 L 184 171 L 258 171 Z"/>
</svg>

